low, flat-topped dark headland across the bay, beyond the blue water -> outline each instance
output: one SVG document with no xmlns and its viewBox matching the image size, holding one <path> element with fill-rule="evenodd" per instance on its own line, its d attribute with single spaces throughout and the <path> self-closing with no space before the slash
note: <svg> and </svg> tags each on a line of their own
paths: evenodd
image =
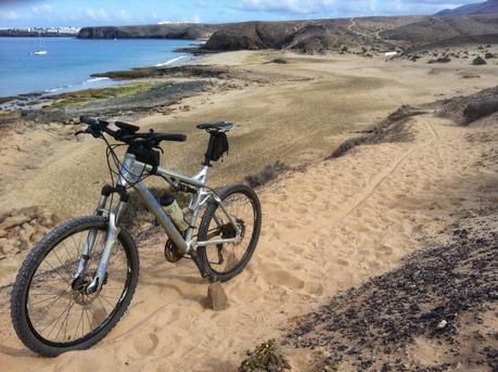
<svg viewBox="0 0 498 372">
<path fill-rule="evenodd" d="M 84 27 L 80 39 L 207 39 L 219 25 L 196 23 Z"/>
</svg>

